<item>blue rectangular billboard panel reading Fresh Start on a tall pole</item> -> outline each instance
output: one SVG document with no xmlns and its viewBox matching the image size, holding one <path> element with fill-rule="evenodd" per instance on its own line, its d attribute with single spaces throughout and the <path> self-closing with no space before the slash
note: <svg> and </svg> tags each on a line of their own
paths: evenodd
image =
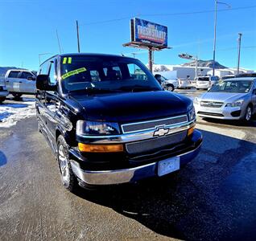
<svg viewBox="0 0 256 241">
<path fill-rule="evenodd" d="M 140 18 L 130 21 L 131 41 L 167 47 L 167 27 Z"/>
</svg>

